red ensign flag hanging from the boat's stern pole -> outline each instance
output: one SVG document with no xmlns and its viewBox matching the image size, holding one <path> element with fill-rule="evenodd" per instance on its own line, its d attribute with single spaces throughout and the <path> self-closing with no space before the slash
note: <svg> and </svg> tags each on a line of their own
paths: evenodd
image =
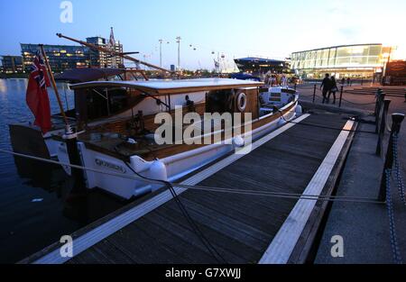
<svg viewBox="0 0 406 282">
<path fill-rule="evenodd" d="M 41 127 L 42 133 L 51 130 L 51 107 L 47 87 L 51 86 L 47 70 L 41 55 L 37 53 L 32 63 L 32 72 L 28 81 L 26 101 L 35 116 L 35 125 Z"/>
</svg>

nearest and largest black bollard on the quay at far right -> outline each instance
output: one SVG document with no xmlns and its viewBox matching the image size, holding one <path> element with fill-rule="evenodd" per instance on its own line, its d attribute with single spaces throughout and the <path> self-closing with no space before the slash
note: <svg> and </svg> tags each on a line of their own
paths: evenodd
<svg viewBox="0 0 406 282">
<path fill-rule="evenodd" d="M 381 186 L 379 190 L 378 201 L 386 201 L 386 183 L 389 177 L 386 174 L 386 169 L 393 168 L 393 134 L 398 134 L 401 131 L 401 122 L 404 120 L 404 114 L 392 114 L 392 132 L 389 138 L 388 151 L 386 152 L 385 164 L 383 167 L 383 175 L 381 179 Z"/>
</svg>

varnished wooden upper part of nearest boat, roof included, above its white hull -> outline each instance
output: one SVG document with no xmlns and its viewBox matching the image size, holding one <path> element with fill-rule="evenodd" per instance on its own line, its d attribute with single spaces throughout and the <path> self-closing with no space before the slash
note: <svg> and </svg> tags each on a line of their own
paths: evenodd
<svg viewBox="0 0 406 282">
<path fill-rule="evenodd" d="M 78 131 L 85 131 L 79 140 L 87 147 L 107 154 L 118 153 L 125 157 L 136 154 L 154 159 L 168 156 L 176 146 L 155 143 L 154 132 L 161 126 L 155 123 L 156 114 L 166 112 L 174 117 L 176 107 L 182 107 L 182 114 L 198 113 L 201 123 L 194 126 L 202 136 L 205 113 L 242 113 L 242 122 L 244 114 L 249 113 L 253 123 L 266 123 L 263 118 L 293 102 L 296 92 L 292 89 L 270 91 L 262 86 L 262 82 L 256 81 L 205 78 L 93 81 L 70 88 L 79 97 L 76 103 Z M 193 148 L 196 146 L 189 147 Z"/>
</svg>

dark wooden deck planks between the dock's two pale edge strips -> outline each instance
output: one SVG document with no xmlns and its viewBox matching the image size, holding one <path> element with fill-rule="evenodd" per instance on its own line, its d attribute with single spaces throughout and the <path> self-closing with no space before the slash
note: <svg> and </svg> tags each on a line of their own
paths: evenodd
<svg viewBox="0 0 406 282">
<path fill-rule="evenodd" d="M 340 129 L 346 121 L 334 115 L 314 115 L 304 123 Z M 302 193 L 338 134 L 336 130 L 295 125 L 199 185 Z M 180 199 L 229 263 L 258 262 L 297 203 L 296 199 L 198 190 L 188 190 Z M 105 263 L 103 258 L 110 258 L 109 253 L 117 249 L 122 253 L 115 253 L 112 260 L 118 263 L 126 259 L 138 263 L 217 262 L 198 241 L 173 200 L 72 260 Z"/>
</svg>

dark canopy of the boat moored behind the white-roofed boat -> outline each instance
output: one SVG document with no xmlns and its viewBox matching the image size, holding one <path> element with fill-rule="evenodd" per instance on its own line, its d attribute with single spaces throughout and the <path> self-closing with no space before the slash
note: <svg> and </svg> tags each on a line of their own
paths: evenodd
<svg viewBox="0 0 406 282">
<path fill-rule="evenodd" d="M 125 73 L 122 68 L 71 68 L 55 75 L 55 80 L 81 83 L 115 77 Z"/>
</svg>

